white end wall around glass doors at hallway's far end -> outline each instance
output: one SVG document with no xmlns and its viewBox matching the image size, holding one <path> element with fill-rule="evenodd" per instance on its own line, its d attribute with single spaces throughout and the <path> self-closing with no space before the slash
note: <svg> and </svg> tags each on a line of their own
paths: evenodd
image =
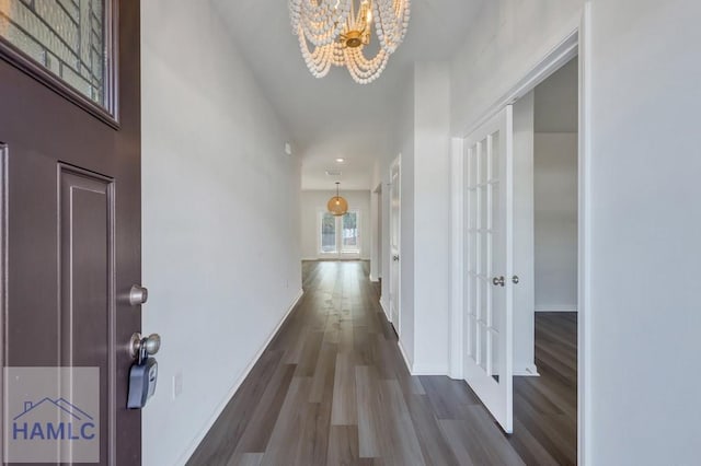
<svg viewBox="0 0 701 466">
<path fill-rule="evenodd" d="M 302 241 L 302 258 L 306 260 L 315 260 L 319 258 L 330 258 L 329 255 L 319 254 L 319 212 L 325 212 L 326 202 L 336 195 L 335 190 L 303 190 L 301 194 L 301 241 Z M 360 212 L 359 231 L 360 231 L 360 256 L 359 258 L 367 260 L 370 258 L 371 248 L 371 231 L 372 222 L 370 221 L 370 191 L 369 190 L 341 190 L 348 201 L 348 210 L 358 210 Z M 358 258 L 354 256 L 354 258 Z"/>
</svg>

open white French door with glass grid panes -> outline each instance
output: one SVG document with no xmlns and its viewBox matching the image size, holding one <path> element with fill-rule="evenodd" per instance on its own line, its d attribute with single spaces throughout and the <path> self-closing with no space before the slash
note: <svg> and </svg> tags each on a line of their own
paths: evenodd
<svg viewBox="0 0 701 466">
<path fill-rule="evenodd" d="M 513 431 L 513 109 L 467 138 L 464 376 Z"/>
</svg>

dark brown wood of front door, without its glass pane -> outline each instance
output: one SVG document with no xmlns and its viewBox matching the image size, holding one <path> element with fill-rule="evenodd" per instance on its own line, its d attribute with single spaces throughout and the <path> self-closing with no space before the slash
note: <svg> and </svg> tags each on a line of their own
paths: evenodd
<svg viewBox="0 0 701 466">
<path fill-rule="evenodd" d="M 42 79 L 27 57 L 0 53 L 0 382 L 7 395 L 16 378 L 8 368 L 97 368 L 96 411 L 77 416 L 67 407 L 79 409 L 80 400 L 47 397 L 58 416 L 96 426 L 83 432 L 99 438 L 90 463 L 138 465 L 141 415 L 126 405 L 128 342 L 141 325 L 141 308 L 128 299 L 141 281 L 140 21 L 138 1 L 113 5 L 115 121 Z M 70 386 L 70 394 L 84 389 Z M 44 401 L 27 398 L 24 411 Z M 26 413 L 2 405 L 3 420 Z M 18 435 L 32 436 L 36 448 L 58 435 L 9 426 L 3 452 Z M 77 435 L 71 429 L 60 435 Z M 82 462 L 76 458 L 67 463 Z"/>
</svg>

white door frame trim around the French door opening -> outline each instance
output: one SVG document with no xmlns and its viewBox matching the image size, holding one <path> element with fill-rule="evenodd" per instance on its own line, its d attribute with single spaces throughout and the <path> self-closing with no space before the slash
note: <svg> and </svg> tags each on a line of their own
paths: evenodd
<svg viewBox="0 0 701 466">
<path fill-rule="evenodd" d="M 452 135 L 451 141 L 451 226 L 450 244 L 452 251 L 450 278 L 450 343 L 449 375 L 463 378 L 463 139 L 487 121 L 506 105 L 514 104 L 531 92 L 538 84 L 562 68 L 567 61 L 577 57 L 579 66 L 579 142 L 578 142 L 578 290 L 577 290 L 577 461 L 581 465 L 589 464 L 591 438 L 591 387 L 590 387 L 590 261 L 591 261 L 591 4 L 585 2 L 582 13 L 563 28 L 562 39 L 548 54 L 542 56 L 525 74 L 515 77 L 512 88 L 498 98 L 469 128 Z"/>
</svg>

